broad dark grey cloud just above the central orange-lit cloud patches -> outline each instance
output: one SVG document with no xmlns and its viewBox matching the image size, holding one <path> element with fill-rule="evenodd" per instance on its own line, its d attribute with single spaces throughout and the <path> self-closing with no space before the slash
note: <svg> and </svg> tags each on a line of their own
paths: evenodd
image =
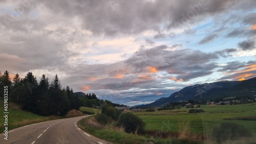
<svg viewBox="0 0 256 144">
<path fill-rule="evenodd" d="M 211 74 L 211 70 L 218 67 L 216 63 L 211 63 L 215 59 L 218 59 L 215 53 L 191 50 L 169 51 L 166 45 L 162 45 L 149 50 L 139 50 L 125 63 L 131 67 L 140 65 L 140 73 L 146 72 L 147 66 L 154 66 L 160 71 L 169 71 L 169 74 L 186 77 L 191 71 L 194 71 L 195 75 L 201 74 L 200 71 L 202 73 L 205 71 L 205 75 Z M 141 61 L 144 63 L 141 64 Z M 202 66 L 199 66 L 199 63 Z M 200 77 L 200 75 L 197 76 Z M 187 76 L 187 78 L 192 78 L 192 76 Z"/>
</svg>

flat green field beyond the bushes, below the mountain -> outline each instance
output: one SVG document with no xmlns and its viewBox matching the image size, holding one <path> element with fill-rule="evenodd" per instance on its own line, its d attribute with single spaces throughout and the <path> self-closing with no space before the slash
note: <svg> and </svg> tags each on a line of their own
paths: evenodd
<svg viewBox="0 0 256 144">
<path fill-rule="evenodd" d="M 256 116 L 255 104 L 206 106 L 201 108 L 206 113 L 188 113 L 189 109 L 181 108 L 155 112 L 134 112 L 146 123 L 147 130 L 181 131 L 210 134 L 213 127 L 222 122 L 234 122 L 244 125 L 256 136 L 256 121 L 224 120 L 225 118 Z M 180 111 L 180 112 L 178 112 Z"/>
</svg>

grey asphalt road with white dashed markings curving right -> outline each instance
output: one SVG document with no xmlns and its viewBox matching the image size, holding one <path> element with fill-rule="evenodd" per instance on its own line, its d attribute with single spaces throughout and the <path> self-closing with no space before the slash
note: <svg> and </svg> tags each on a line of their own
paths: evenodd
<svg viewBox="0 0 256 144">
<path fill-rule="evenodd" d="M 76 122 L 88 116 L 90 115 L 57 119 L 13 129 L 8 133 L 8 140 L 4 139 L 4 133 L 0 135 L 0 143 L 110 143 L 86 133 L 77 127 Z"/>
</svg>

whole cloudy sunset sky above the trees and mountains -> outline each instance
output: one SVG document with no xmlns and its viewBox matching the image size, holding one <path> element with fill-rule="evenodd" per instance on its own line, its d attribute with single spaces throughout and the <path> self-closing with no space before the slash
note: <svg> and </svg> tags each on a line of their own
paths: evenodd
<svg viewBox="0 0 256 144">
<path fill-rule="evenodd" d="M 256 77 L 256 1 L 0 1 L 0 71 L 129 106 Z"/>
</svg>

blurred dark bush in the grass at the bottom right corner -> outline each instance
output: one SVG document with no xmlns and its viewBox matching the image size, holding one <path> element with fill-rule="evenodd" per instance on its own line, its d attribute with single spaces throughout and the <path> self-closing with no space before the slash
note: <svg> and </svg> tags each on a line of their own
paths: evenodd
<svg viewBox="0 0 256 144">
<path fill-rule="evenodd" d="M 221 123 L 219 127 L 213 129 L 212 136 L 216 142 L 221 143 L 226 140 L 237 140 L 241 137 L 250 137 L 252 134 L 243 125 L 224 122 Z"/>
</svg>

